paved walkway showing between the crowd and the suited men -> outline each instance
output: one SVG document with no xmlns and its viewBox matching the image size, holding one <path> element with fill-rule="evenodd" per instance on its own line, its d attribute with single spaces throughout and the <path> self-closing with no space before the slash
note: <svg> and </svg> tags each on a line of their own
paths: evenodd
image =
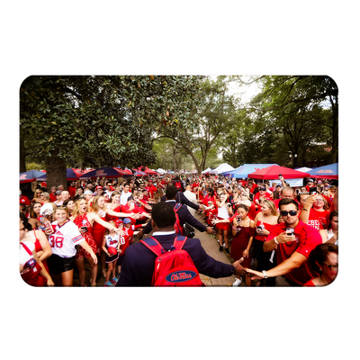
<svg viewBox="0 0 360 360">
<path fill-rule="evenodd" d="M 204 222 L 200 215 L 195 214 L 195 218 L 199 220 L 200 222 Z M 151 236 L 151 233 L 148 235 Z M 227 256 L 225 252 L 220 253 L 219 252 L 219 243 L 216 241 L 216 238 L 211 238 L 210 235 L 206 232 L 200 232 L 199 230 L 195 229 L 195 237 L 199 238 L 202 247 L 205 249 L 206 253 L 213 257 L 215 260 L 218 260 L 225 264 L 231 264 L 231 261 L 229 260 L 229 255 Z M 137 243 L 139 241 L 139 238 L 134 238 L 134 243 Z M 90 276 L 90 270 L 89 266 L 87 266 L 85 262 L 85 269 L 86 269 L 86 277 L 85 277 L 85 284 L 89 284 L 89 276 Z M 103 284 L 105 282 L 105 278 L 101 274 L 101 266 L 99 266 L 99 274 L 97 275 L 97 290 L 103 290 Z M 76 279 L 77 276 L 75 276 L 74 279 L 74 288 L 76 288 Z M 231 290 L 231 285 L 234 283 L 236 276 L 232 275 L 229 277 L 221 277 L 218 279 L 215 279 L 213 277 L 207 276 L 207 275 L 200 275 L 202 279 L 202 283 L 206 285 L 206 290 Z M 88 286 L 90 288 L 90 286 Z M 243 290 L 243 288 L 246 288 L 245 282 L 239 286 L 239 290 Z"/>
</svg>

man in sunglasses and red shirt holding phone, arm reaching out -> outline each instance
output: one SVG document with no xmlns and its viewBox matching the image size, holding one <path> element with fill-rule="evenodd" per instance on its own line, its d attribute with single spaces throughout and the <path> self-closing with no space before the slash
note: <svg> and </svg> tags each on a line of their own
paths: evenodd
<svg viewBox="0 0 360 360">
<path fill-rule="evenodd" d="M 276 289 L 302 289 L 302 284 L 318 276 L 308 266 L 311 250 L 322 243 L 320 233 L 299 220 L 299 204 L 293 199 L 279 202 L 280 214 L 284 222 L 270 230 L 264 243 L 264 251 L 276 250 L 277 266 L 262 272 L 247 269 L 254 274 L 251 279 L 276 278 Z M 293 235 L 291 234 L 293 232 Z M 284 286 L 282 286 L 284 285 Z"/>
</svg>

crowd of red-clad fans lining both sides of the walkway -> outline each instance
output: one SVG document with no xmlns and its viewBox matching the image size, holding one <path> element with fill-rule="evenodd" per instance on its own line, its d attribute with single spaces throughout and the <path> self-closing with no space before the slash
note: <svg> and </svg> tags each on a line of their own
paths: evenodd
<svg viewBox="0 0 360 360">
<path fill-rule="evenodd" d="M 209 241 L 218 241 L 219 251 L 234 262 L 229 268 L 203 254 L 202 260 L 212 267 L 198 259 L 195 266 L 204 275 L 236 275 L 233 289 L 243 279 L 248 290 L 332 287 L 341 270 L 341 186 L 307 179 L 294 189 L 282 176 L 280 180 L 256 184 L 252 179 L 197 174 L 97 178 L 70 182 L 67 189 L 63 184 L 50 189 L 36 184 L 30 199 L 18 186 L 18 277 L 33 289 L 73 289 L 76 269 L 78 288 L 96 289 L 100 265 L 104 289 L 131 288 L 141 278 L 149 281 L 154 266 L 150 260 L 155 258 L 148 257 L 151 274 L 142 271 L 139 278 L 131 277 L 131 266 L 147 251 L 134 237 L 152 230 L 168 235 L 176 226 L 184 233 L 189 224 L 210 234 Z M 173 225 L 173 218 L 163 228 L 162 220 L 152 219 L 158 202 L 174 208 Z M 157 213 L 164 211 L 159 206 Z M 193 217 L 196 211 L 205 225 Z M 187 243 L 191 253 L 193 245 Z M 91 269 L 90 284 L 85 284 L 85 262 Z"/>
</svg>

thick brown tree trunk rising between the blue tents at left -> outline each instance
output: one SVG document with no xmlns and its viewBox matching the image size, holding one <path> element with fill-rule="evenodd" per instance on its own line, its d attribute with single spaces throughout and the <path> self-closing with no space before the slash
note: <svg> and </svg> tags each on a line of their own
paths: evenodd
<svg viewBox="0 0 360 360">
<path fill-rule="evenodd" d="M 64 185 L 67 190 L 67 163 L 58 157 L 59 149 L 56 148 L 50 157 L 45 158 L 48 191 L 52 186 Z"/>
</svg>

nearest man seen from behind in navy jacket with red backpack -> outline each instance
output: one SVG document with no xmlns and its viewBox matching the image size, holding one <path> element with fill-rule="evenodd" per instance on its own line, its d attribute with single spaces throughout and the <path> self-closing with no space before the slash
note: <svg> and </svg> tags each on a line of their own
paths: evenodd
<svg viewBox="0 0 360 360">
<path fill-rule="evenodd" d="M 175 211 L 168 202 L 157 202 L 151 211 L 152 238 L 129 247 L 121 277 L 115 286 L 123 289 L 202 289 L 198 273 L 214 278 L 244 275 L 240 265 L 224 264 L 209 257 L 198 238 L 175 233 Z"/>
</svg>

